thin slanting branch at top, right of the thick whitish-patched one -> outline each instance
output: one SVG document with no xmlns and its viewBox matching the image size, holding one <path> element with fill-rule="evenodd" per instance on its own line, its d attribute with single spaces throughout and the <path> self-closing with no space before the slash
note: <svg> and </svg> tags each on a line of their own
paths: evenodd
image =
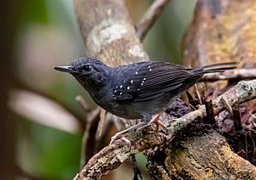
<svg viewBox="0 0 256 180">
<path fill-rule="evenodd" d="M 155 0 L 154 3 L 148 8 L 145 14 L 143 14 L 142 19 L 137 23 L 137 37 L 143 42 L 143 39 L 146 37 L 146 34 L 154 25 L 154 22 L 158 19 L 160 14 L 163 12 L 163 9 L 166 7 L 166 4 L 170 0 Z"/>
</svg>

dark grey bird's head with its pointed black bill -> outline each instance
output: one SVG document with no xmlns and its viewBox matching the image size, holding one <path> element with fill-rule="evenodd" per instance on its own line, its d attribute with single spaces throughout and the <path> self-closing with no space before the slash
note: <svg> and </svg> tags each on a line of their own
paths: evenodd
<svg viewBox="0 0 256 180">
<path fill-rule="evenodd" d="M 71 65 L 56 66 L 55 70 L 72 74 L 85 89 L 89 90 L 91 86 L 100 86 L 108 78 L 110 68 L 98 59 L 79 58 Z"/>
</svg>

